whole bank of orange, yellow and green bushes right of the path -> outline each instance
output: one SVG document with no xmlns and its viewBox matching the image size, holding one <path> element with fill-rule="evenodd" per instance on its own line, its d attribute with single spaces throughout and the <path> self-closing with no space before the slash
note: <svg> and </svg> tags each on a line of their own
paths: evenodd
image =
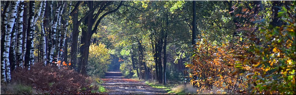
<svg viewBox="0 0 296 95">
<path fill-rule="evenodd" d="M 199 87 L 197 92 L 216 86 L 217 93 L 296 94 L 295 17 L 288 14 L 295 10 L 295 3 L 290 8 L 281 7 L 278 17 L 284 24 L 280 27 L 257 20 L 257 25 L 239 29 L 260 27 L 257 32 L 263 37 L 254 32 L 240 34 L 217 45 L 202 35 L 193 47 L 192 63 L 185 64 L 190 68 L 190 82 Z M 256 41 L 259 38 L 264 43 Z"/>
</svg>

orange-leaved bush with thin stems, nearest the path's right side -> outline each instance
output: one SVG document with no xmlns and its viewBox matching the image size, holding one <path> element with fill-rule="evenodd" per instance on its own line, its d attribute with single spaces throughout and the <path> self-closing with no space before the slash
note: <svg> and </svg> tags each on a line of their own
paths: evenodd
<svg viewBox="0 0 296 95">
<path fill-rule="evenodd" d="M 224 42 L 218 47 L 208 41 L 204 35 L 197 41 L 191 57 L 193 63 L 185 65 L 190 68 L 189 73 L 192 78 L 190 82 L 200 87 L 198 93 L 211 90 L 213 86 L 219 88 L 215 92 L 224 94 L 241 93 L 248 89 L 244 76 L 232 74 L 235 70 L 234 63 L 238 61 L 232 54 L 236 49 L 242 49 L 242 46 Z"/>
</svg>

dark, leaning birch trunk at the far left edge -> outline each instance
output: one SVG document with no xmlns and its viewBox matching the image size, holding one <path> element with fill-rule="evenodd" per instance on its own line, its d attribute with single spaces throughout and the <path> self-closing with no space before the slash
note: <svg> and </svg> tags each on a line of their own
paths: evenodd
<svg viewBox="0 0 296 95">
<path fill-rule="evenodd" d="M 12 1 L 7 1 L 4 12 L 1 14 L 1 79 L 6 82 L 6 62 L 5 62 L 5 51 L 6 51 L 6 33 L 7 33 L 7 18 L 10 9 L 10 3 Z"/>
</svg>

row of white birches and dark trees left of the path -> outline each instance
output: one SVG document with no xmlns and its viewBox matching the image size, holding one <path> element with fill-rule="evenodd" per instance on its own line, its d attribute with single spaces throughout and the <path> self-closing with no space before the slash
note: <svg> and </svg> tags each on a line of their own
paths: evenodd
<svg viewBox="0 0 296 95">
<path fill-rule="evenodd" d="M 84 5 L 89 10 L 79 13 Z M 34 63 L 52 65 L 64 61 L 86 75 L 90 38 L 101 20 L 121 5 L 122 2 L 112 1 L 2 1 L 2 81 L 11 80 L 11 70 L 30 70 Z M 82 22 L 89 27 L 82 32 L 82 46 L 78 47 L 78 27 Z M 78 52 L 81 54 L 79 61 Z"/>
</svg>

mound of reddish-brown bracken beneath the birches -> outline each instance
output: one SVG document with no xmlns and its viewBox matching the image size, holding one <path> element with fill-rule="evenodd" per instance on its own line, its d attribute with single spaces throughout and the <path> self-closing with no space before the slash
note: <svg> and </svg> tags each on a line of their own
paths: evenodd
<svg viewBox="0 0 296 95">
<path fill-rule="evenodd" d="M 56 64 L 47 66 L 35 64 L 31 70 L 19 68 L 11 75 L 12 82 L 25 83 L 24 85 L 32 86 L 43 94 L 78 94 L 83 91 L 83 88 L 89 89 L 91 84 L 87 76 L 69 68 L 59 69 Z"/>
</svg>

